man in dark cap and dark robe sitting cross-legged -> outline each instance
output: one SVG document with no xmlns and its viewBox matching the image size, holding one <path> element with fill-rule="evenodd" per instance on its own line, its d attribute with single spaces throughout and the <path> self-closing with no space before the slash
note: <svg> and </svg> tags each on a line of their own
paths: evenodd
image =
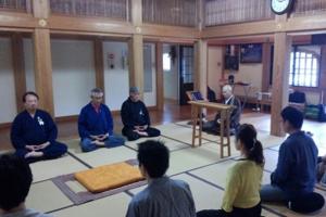
<svg viewBox="0 0 326 217">
<path fill-rule="evenodd" d="M 139 91 L 136 87 L 129 89 L 129 98 L 123 103 L 121 117 L 124 124 L 122 132 L 129 141 L 140 137 L 159 137 L 161 131 L 151 127 L 151 120 L 148 110 L 139 98 Z"/>
</svg>

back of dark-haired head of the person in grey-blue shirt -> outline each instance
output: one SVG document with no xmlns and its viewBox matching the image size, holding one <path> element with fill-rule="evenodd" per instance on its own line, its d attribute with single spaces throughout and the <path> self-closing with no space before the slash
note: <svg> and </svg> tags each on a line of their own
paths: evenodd
<svg viewBox="0 0 326 217">
<path fill-rule="evenodd" d="M 168 168 L 170 152 L 162 142 L 148 140 L 138 144 L 137 158 L 150 178 L 160 178 Z"/>
</svg>

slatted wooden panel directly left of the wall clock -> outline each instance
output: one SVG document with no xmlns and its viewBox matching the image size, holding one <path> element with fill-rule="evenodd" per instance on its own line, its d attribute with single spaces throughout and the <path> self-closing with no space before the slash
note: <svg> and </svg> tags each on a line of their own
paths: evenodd
<svg viewBox="0 0 326 217">
<path fill-rule="evenodd" d="M 205 0 L 205 26 L 273 20 L 269 0 Z"/>
</svg>

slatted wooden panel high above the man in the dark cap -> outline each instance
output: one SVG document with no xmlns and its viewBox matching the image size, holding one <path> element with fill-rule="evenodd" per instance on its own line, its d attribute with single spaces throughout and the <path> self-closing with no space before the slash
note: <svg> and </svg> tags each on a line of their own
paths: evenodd
<svg viewBox="0 0 326 217">
<path fill-rule="evenodd" d="M 197 26 L 197 0 L 142 0 L 143 23 Z"/>
</svg>

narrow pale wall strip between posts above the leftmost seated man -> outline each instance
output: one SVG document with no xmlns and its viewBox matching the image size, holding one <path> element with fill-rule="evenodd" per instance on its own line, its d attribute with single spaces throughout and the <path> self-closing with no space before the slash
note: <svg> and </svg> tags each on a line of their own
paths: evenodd
<svg viewBox="0 0 326 217">
<path fill-rule="evenodd" d="M 24 60 L 26 73 L 26 89 L 27 91 L 35 91 L 35 77 L 34 77 L 34 49 L 30 38 L 24 38 Z"/>
</svg>

